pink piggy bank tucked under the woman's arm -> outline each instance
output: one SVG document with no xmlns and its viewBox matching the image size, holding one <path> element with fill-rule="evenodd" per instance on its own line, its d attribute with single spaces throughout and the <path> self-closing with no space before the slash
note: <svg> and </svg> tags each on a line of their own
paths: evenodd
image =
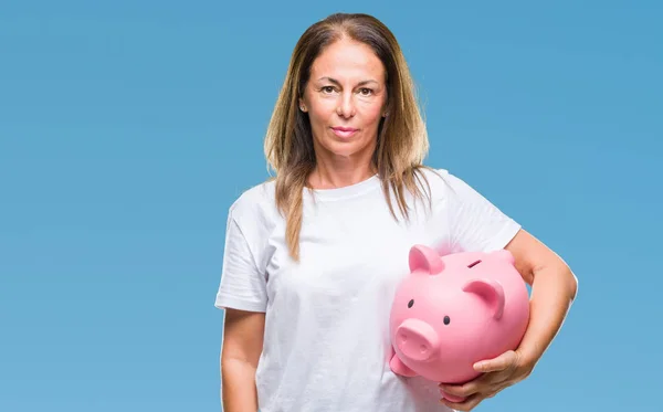
<svg viewBox="0 0 663 412">
<path fill-rule="evenodd" d="M 473 363 L 517 348 L 529 321 L 529 295 L 508 251 L 440 256 L 415 245 L 409 263 L 389 319 L 394 373 L 464 383 L 481 373 Z"/>
</svg>

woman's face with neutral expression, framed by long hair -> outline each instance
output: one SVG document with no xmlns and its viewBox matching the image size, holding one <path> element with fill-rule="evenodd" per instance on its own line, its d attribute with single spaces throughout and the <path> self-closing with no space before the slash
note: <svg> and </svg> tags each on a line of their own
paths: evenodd
<svg viewBox="0 0 663 412">
<path fill-rule="evenodd" d="M 372 50 L 343 39 L 314 61 L 301 108 L 320 160 L 370 161 L 387 102 L 385 66 Z"/>
</svg>

